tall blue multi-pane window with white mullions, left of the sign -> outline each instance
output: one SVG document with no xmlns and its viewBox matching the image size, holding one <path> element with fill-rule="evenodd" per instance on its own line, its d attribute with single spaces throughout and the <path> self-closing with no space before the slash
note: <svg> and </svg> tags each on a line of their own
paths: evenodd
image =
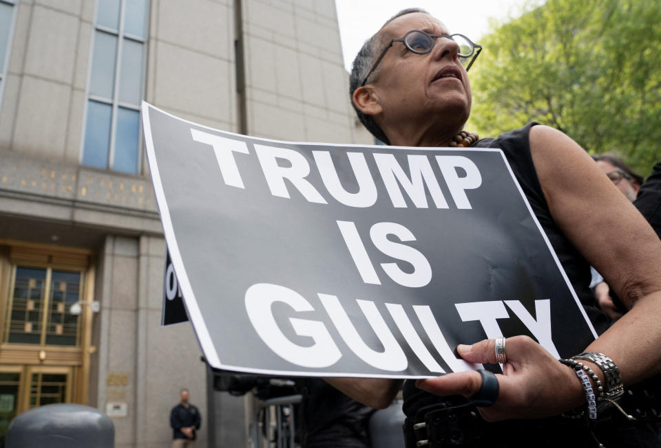
<svg viewBox="0 0 661 448">
<path fill-rule="evenodd" d="M 83 165 L 137 174 L 148 0 L 98 0 Z"/>
</svg>

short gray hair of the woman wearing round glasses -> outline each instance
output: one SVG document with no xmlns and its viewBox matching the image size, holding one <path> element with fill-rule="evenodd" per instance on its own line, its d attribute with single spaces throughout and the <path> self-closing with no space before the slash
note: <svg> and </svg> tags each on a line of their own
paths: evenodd
<svg viewBox="0 0 661 448">
<path fill-rule="evenodd" d="M 372 133 L 372 135 L 377 137 L 377 139 L 381 140 L 381 142 L 384 142 L 385 144 L 390 144 L 390 142 L 388 142 L 388 137 L 386 137 L 386 133 L 384 133 L 384 130 L 381 129 L 377 122 L 374 121 L 371 115 L 366 115 L 365 113 L 358 110 L 353 102 L 353 93 L 356 91 L 356 89 L 358 89 L 358 87 L 360 87 L 361 82 L 363 82 L 368 74 L 368 71 L 374 65 L 375 59 L 377 58 L 377 51 L 379 48 L 385 45 L 386 39 L 381 34 L 381 30 L 383 30 L 384 27 L 388 25 L 388 23 L 397 19 L 397 17 L 403 16 L 405 14 L 411 14 L 412 12 L 429 14 L 429 12 L 423 10 L 422 8 L 406 8 L 405 10 L 401 10 L 394 16 L 390 17 L 390 19 L 384 23 L 384 25 L 374 34 L 374 36 L 368 38 L 368 40 L 365 41 L 360 51 L 356 55 L 356 58 L 353 60 L 353 67 L 351 68 L 351 74 L 349 76 L 349 100 L 351 101 L 351 105 L 358 115 L 358 119 L 363 124 L 363 126 L 365 126 L 367 130 Z"/>
</svg>

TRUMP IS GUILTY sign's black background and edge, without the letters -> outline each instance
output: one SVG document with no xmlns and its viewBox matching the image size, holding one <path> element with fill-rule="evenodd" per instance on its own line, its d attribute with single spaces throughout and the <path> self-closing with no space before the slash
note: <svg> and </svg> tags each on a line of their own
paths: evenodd
<svg viewBox="0 0 661 448">
<path fill-rule="evenodd" d="M 431 307 L 452 348 L 486 337 L 480 322 L 462 322 L 454 305 L 492 300 L 521 300 L 533 317 L 534 300 L 551 300 L 553 340 L 563 357 L 580 352 L 594 339 L 594 330 L 563 278 L 499 150 L 271 142 L 205 128 L 148 104 L 143 105 L 143 117 L 167 245 L 200 346 L 214 368 L 269 374 L 435 376 L 412 353 L 386 310 L 386 303 L 403 304 L 418 335 L 446 370 L 447 364 L 426 337 L 413 305 Z M 249 154 L 234 153 L 244 189 L 225 185 L 213 148 L 194 141 L 191 128 L 247 142 Z M 274 197 L 253 144 L 299 151 L 311 166 L 306 179 L 328 204 L 309 203 L 291 183 L 287 183 L 291 199 Z M 329 151 L 342 185 L 354 192 L 357 181 L 346 152 L 364 153 L 375 176 L 377 203 L 369 208 L 350 208 L 335 201 L 324 188 L 311 150 Z M 415 208 L 406 193 L 403 196 L 408 208 L 393 208 L 372 153 L 395 154 L 404 170 L 408 169 L 408 154 L 428 155 L 432 161 L 436 155 L 470 158 L 482 176 L 480 188 L 466 190 L 472 209 L 454 207 L 434 164 L 450 208 L 435 208 L 429 194 L 430 208 Z M 355 223 L 377 269 L 380 285 L 361 280 L 336 221 Z M 370 243 L 370 227 L 379 222 L 401 224 L 415 235 L 416 240 L 406 244 L 430 262 L 433 276 L 426 287 L 403 287 L 379 267 L 381 263 L 397 262 L 404 271 L 412 269 Z M 341 359 L 328 368 L 302 368 L 266 346 L 255 333 L 244 305 L 246 290 L 258 283 L 293 289 L 313 306 L 315 311 L 297 313 L 286 304 L 273 304 L 275 319 L 288 339 L 301 346 L 313 342 L 310 337 L 296 335 L 291 317 L 323 322 L 342 352 Z M 406 352 L 408 368 L 401 372 L 379 370 L 357 357 L 338 334 L 317 293 L 336 295 L 366 344 L 382 350 L 356 299 L 375 302 Z M 498 322 L 503 334 L 532 336 L 508 311 L 510 318 Z"/>
</svg>

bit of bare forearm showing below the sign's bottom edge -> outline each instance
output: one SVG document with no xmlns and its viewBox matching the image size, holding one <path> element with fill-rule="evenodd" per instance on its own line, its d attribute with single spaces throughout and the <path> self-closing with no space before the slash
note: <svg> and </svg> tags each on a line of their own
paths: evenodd
<svg viewBox="0 0 661 448">
<path fill-rule="evenodd" d="M 324 378 L 335 389 L 355 401 L 375 409 L 384 409 L 392 403 L 401 388 L 401 379 L 387 378 Z"/>
</svg>

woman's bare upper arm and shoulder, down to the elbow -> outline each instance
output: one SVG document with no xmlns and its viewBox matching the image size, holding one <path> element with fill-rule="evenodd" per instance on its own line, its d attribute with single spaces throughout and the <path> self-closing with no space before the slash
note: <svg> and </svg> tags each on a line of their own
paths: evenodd
<svg viewBox="0 0 661 448">
<path fill-rule="evenodd" d="M 555 223 L 625 304 L 661 286 L 659 238 L 574 140 L 548 126 L 529 133 L 530 154 Z"/>
</svg>

